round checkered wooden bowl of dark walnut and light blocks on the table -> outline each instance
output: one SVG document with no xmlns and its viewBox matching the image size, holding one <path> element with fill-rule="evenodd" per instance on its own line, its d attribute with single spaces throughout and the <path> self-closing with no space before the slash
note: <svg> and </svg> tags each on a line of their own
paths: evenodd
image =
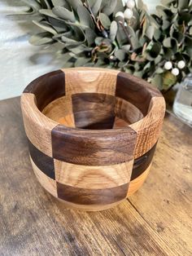
<svg viewBox="0 0 192 256">
<path fill-rule="evenodd" d="M 159 138 L 159 90 L 127 73 L 66 68 L 21 96 L 33 170 L 68 206 L 105 210 L 142 186 Z"/>
</svg>

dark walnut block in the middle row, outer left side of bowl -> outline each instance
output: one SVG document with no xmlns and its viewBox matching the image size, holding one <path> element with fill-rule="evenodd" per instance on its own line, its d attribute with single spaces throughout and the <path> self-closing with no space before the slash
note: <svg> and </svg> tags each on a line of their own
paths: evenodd
<svg viewBox="0 0 192 256">
<path fill-rule="evenodd" d="M 28 139 L 28 148 L 30 152 L 30 156 L 38 167 L 44 174 L 49 176 L 51 179 L 55 179 L 55 167 L 54 167 L 54 160 L 52 157 L 46 156 L 43 152 L 38 150 L 33 143 L 30 142 Z"/>
</svg>

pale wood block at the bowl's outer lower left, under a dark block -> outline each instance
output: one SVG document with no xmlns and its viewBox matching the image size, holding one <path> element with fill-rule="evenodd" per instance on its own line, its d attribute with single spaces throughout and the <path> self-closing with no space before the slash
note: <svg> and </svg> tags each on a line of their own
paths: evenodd
<svg viewBox="0 0 192 256">
<path fill-rule="evenodd" d="M 29 156 L 30 157 L 30 156 Z M 41 170 L 33 162 L 33 159 L 30 157 L 30 161 L 32 163 L 33 171 L 39 181 L 41 186 L 45 188 L 51 195 L 57 197 L 57 187 L 56 181 L 54 179 L 50 179 L 46 174 L 44 174 Z"/>
</svg>

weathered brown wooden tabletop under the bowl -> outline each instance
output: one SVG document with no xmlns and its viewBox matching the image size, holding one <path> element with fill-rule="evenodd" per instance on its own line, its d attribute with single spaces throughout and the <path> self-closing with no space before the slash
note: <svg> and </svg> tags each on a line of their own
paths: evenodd
<svg viewBox="0 0 192 256">
<path fill-rule="evenodd" d="M 167 115 L 143 187 L 103 212 L 68 210 L 33 174 L 20 98 L 0 102 L 0 255 L 192 255 L 192 129 Z"/>
</svg>

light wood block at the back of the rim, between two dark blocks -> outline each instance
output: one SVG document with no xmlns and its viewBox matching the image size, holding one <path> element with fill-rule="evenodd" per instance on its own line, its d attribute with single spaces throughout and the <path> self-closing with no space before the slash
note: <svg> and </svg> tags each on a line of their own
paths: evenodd
<svg viewBox="0 0 192 256">
<path fill-rule="evenodd" d="M 65 94 L 82 92 L 115 95 L 116 77 L 119 71 L 107 68 L 63 68 Z"/>
</svg>

